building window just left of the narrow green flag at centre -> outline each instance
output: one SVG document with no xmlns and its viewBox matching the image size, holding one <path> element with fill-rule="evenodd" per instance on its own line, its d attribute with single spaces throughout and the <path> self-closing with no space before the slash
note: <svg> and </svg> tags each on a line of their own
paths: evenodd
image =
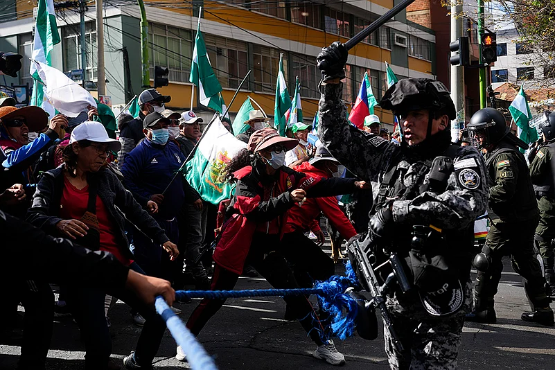
<svg viewBox="0 0 555 370">
<path fill-rule="evenodd" d="M 279 50 L 253 44 L 254 91 L 274 93 L 276 78 L 279 71 Z M 285 82 L 288 80 L 287 55 L 283 55 L 283 71 Z"/>
</svg>

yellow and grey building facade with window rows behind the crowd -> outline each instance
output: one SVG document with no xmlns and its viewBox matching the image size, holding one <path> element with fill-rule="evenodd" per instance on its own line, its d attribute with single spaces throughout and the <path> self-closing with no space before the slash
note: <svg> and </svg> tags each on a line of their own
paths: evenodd
<svg viewBox="0 0 555 370">
<path fill-rule="evenodd" d="M 24 55 L 24 67 L 18 78 L 6 76 L 5 85 L 32 86 L 28 68 L 33 49 L 33 3 L 1 0 L 0 50 Z M 362 30 L 394 6 L 396 0 L 360 1 L 156 1 L 146 2 L 151 85 L 155 65 L 170 70 L 168 107 L 188 109 L 191 105 L 191 70 L 194 38 L 199 7 L 202 6 L 201 29 L 206 49 L 216 76 L 229 103 L 247 71 L 249 80 L 243 86 L 230 111 L 236 112 L 251 96 L 269 115 L 273 115 L 274 93 L 279 57 L 283 53 L 285 78 L 290 94 L 299 76 L 303 115 L 311 121 L 317 111 L 320 73 L 316 56 L 323 46 L 347 39 Z M 56 4 L 56 3 L 55 3 Z M 96 27 L 94 5 L 85 12 L 87 65 L 81 65 L 80 15 L 75 8 L 56 6 L 62 42 L 55 46 L 53 67 L 70 73 L 85 67 L 87 86 L 96 82 Z M 104 40 L 107 95 L 114 105 L 125 104 L 141 87 L 140 12 L 134 1 L 105 2 Z M 364 39 L 349 53 L 344 85 L 344 101 L 352 105 L 358 94 L 364 72 L 371 77 L 373 93 L 380 100 L 387 89 L 385 61 L 398 78 L 428 77 L 436 73 L 435 33 L 407 21 L 405 11 L 388 21 L 376 33 Z M 0 80 L 0 84 L 1 84 Z M 92 83 L 91 83 L 92 82 Z M 91 91 L 94 94 L 94 91 Z M 193 106 L 202 106 L 193 96 Z M 350 109 L 350 108 L 349 108 Z M 206 114 L 211 116 L 206 110 Z M 376 114 L 384 123 L 393 117 Z M 233 116 L 233 113 L 231 114 Z"/>
</svg>

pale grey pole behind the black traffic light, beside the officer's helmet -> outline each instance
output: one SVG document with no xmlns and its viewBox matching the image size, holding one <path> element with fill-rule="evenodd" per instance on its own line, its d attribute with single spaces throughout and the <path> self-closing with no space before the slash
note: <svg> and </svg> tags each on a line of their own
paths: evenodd
<svg viewBox="0 0 555 370">
<path fill-rule="evenodd" d="M 462 1 L 451 6 L 451 40 L 463 35 Z M 455 103 L 457 117 L 451 121 L 451 141 L 459 140 L 459 132 L 464 128 L 464 67 L 451 66 L 451 98 Z"/>
</svg>

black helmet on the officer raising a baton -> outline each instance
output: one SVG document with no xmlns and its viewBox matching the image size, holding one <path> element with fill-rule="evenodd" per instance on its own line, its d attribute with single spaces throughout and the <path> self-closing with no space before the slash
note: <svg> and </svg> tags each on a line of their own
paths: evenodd
<svg viewBox="0 0 555 370">
<path fill-rule="evenodd" d="M 443 83 L 429 78 L 399 80 L 385 91 L 380 107 L 393 112 L 432 109 L 447 114 L 450 120 L 457 116 L 449 90 Z"/>
</svg>

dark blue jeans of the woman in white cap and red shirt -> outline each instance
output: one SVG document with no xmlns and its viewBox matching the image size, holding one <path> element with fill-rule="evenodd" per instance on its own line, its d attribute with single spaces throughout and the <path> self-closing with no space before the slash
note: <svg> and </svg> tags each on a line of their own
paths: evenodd
<svg viewBox="0 0 555 370">
<path fill-rule="evenodd" d="M 136 263 L 130 269 L 143 273 Z M 106 291 L 99 288 L 71 286 L 68 288 L 68 301 L 70 308 L 81 331 L 85 342 L 85 369 L 105 370 L 109 356 L 112 353 L 112 340 L 104 312 L 104 297 L 111 294 L 118 297 L 132 308 L 138 310 L 146 319 L 143 330 L 135 349 L 135 356 L 139 364 L 150 366 L 154 359 L 160 342 L 166 331 L 164 320 L 157 315 L 152 307 L 139 301 L 134 294 L 126 290 Z"/>
</svg>

